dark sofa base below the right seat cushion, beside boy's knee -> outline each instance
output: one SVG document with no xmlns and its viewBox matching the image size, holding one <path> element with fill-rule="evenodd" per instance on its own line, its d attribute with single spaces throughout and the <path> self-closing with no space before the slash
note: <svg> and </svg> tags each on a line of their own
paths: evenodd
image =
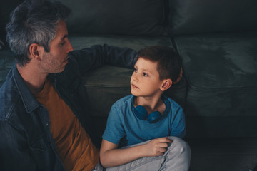
<svg viewBox="0 0 257 171">
<path fill-rule="evenodd" d="M 190 171 L 251 171 L 257 161 L 257 138 L 192 138 Z"/>
</svg>

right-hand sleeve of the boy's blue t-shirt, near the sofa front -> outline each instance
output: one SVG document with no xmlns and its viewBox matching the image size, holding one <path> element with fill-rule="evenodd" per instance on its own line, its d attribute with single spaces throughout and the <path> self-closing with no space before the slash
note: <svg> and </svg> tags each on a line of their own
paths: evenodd
<svg viewBox="0 0 257 171">
<path fill-rule="evenodd" d="M 179 108 L 173 113 L 171 120 L 171 133 L 170 136 L 184 138 L 186 135 L 186 121 L 183 109 Z"/>
</svg>

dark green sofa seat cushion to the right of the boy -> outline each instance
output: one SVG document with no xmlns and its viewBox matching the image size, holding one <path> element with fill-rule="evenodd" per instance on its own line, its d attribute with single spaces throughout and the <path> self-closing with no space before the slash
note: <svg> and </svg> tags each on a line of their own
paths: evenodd
<svg viewBox="0 0 257 171">
<path fill-rule="evenodd" d="M 257 136 L 257 33 L 176 36 L 175 42 L 188 81 L 188 125 L 199 135 Z"/>
</svg>

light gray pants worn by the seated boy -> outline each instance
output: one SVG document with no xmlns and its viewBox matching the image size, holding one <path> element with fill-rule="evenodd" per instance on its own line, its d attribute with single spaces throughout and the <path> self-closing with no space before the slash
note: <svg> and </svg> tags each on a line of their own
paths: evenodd
<svg viewBox="0 0 257 171">
<path fill-rule="evenodd" d="M 171 170 L 171 171 L 187 171 L 189 170 L 191 150 L 187 142 L 177 137 L 168 137 L 173 140 L 171 145 L 167 148 L 167 151 L 158 157 L 142 157 L 132 162 L 128 162 L 125 165 L 117 167 L 103 168 L 100 164 L 96 165 L 92 171 L 129 171 L 129 170 Z M 137 145 L 141 145 L 146 142 L 142 142 Z M 135 145 L 133 145 L 135 146 Z M 129 146 L 131 147 L 131 146 Z"/>
</svg>

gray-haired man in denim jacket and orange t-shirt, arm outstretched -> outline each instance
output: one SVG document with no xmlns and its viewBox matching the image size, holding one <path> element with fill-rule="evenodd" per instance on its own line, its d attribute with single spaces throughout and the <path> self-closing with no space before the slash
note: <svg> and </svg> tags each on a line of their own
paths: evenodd
<svg viewBox="0 0 257 171">
<path fill-rule="evenodd" d="M 131 67 L 136 52 L 73 51 L 69 14 L 58 2 L 27 0 L 6 25 L 16 65 L 0 88 L 0 170 L 92 170 L 99 162 L 81 76 L 104 63 Z"/>
</svg>

